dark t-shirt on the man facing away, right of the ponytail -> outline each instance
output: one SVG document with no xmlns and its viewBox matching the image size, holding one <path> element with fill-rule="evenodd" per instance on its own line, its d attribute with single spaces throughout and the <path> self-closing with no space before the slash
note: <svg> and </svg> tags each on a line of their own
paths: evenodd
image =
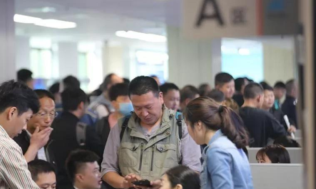
<svg viewBox="0 0 316 189">
<path fill-rule="evenodd" d="M 239 115 L 249 132 L 249 146 L 263 147 L 267 145 L 268 138 L 275 139 L 286 135 L 286 130 L 271 113 L 258 108 L 242 107 Z"/>
</svg>

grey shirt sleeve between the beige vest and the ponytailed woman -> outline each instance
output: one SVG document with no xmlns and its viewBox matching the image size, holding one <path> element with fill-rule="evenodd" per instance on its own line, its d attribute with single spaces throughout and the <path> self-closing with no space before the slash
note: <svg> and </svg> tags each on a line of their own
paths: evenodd
<svg viewBox="0 0 316 189">
<path fill-rule="evenodd" d="M 188 166 L 195 171 L 201 172 L 201 148 L 189 135 L 188 127 L 184 122 L 182 122 L 182 133 L 182 165 Z"/>
</svg>

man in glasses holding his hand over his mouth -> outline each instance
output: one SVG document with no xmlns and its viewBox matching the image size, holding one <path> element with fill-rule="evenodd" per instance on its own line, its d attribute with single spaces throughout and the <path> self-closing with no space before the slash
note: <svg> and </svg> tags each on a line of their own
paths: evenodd
<svg viewBox="0 0 316 189">
<path fill-rule="evenodd" d="M 40 110 L 32 116 L 27 128 L 22 131 L 14 140 L 22 148 L 27 162 L 34 159 L 42 159 L 53 162 L 50 157 L 49 141 L 52 132 L 52 122 L 57 116 L 55 111 L 54 95 L 47 90 L 35 90 L 39 97 Z"/>
</svg>

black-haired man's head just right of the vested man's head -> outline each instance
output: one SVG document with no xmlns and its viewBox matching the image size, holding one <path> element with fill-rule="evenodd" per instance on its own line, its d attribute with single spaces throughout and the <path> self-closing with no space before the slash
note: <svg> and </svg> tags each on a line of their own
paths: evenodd
<svg viewBox="0 0 316 189">
<path fill-rule="evenodd" d="M 160 86 L 160 91 L 163 92 L 166 107 L 177 111 L 180 107 L 180 91 L 177 85 L 165 83 Z"/>
</svg>

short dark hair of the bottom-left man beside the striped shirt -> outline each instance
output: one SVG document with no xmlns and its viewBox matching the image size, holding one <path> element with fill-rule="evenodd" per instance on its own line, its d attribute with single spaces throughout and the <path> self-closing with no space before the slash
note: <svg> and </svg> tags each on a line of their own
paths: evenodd
<svg viewBox="0 0 316 189">
<path fill-rule="evenodd" d="M 28 163 L 28 168 L 34 181 L 37 181 L 38 175 L 40 173 L 55 173 L 55 169 L 52 164 L 42 159 L 35 159 L 33 161 L 30 161 Z"/>
</svg>

